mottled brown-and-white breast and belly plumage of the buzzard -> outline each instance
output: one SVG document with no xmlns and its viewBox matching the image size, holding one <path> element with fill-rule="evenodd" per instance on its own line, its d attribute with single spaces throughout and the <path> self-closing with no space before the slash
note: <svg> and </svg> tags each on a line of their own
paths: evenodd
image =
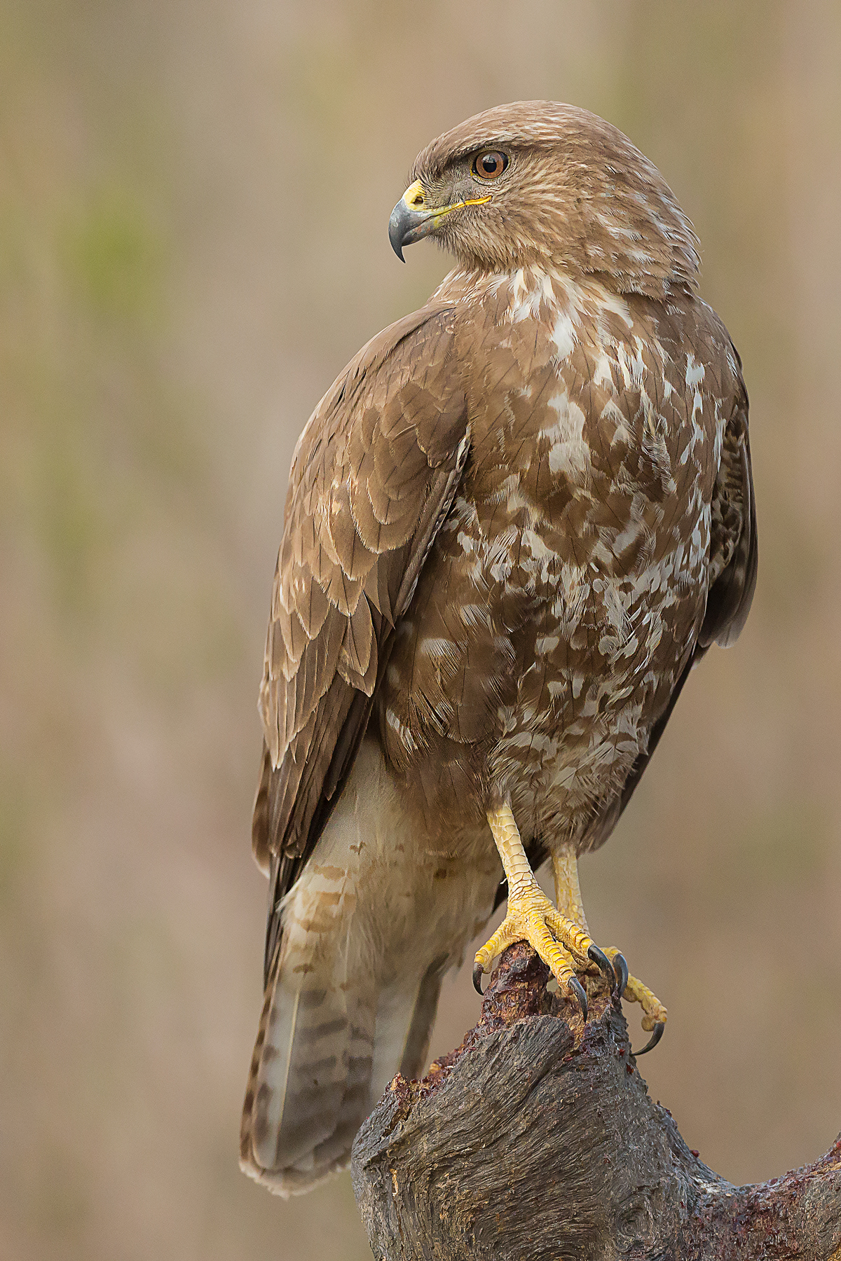
<svg viewBox="0 0 841 1261">
<path fill-rule="evenodd" d="M 667 309 L 562 274 L 454 274 L 436 300 L 469 306 L 482 371 L 468 469 L 377 692 L 381 739 L 430 823 L 480 820 L 496 786 L 527 841 L 562 818 L 588 847 L 744 533 L 726 469 L 712 511 L 716 448 L 744 433 L 730 342 L 690 295 Z"/>
</svg>

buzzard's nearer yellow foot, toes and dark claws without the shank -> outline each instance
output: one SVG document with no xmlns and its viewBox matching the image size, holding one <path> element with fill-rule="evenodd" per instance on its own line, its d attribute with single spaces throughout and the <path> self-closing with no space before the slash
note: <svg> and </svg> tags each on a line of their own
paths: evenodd
<svg viewBox="0 0 841 1261">
<path fill-rule="evenodd" d="M 531 880 L 523 881 L 518 889 L 509 890 L 506 918 L 493 937 L 485 942 L 482 950 L 477 951 L 473 963 L 473 984 L 479 994 L 482 994 L 482 973 L 490 971 L 490 965 L 497 955 L 519 941 L 527 941 L 537 951 L 557 981 L 560 992 L 565 997 L 575 999 L 585 1020 L 588 1018 L 586 991 L 576 972 L 594 972 L 593 965 L 595 965 L 608 979 L 612 990 L 618 982 L 620 984 L 622 965 L 614 965 L 584 928 L 571 919 L 566 919 L 552 905 L 532 876 Z M 617 951 L 617 953 L 619 952 Z M 651 994 L 649 990 L 646 992 Z"/>
</svg>

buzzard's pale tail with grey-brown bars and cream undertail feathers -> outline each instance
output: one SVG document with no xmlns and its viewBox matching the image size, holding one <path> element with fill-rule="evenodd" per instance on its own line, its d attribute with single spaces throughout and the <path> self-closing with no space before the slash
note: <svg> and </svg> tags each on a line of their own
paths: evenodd
<svg viewBox="0 0 841 1261">
<path fill-rule="evenodd" d="M 393 1074 L 420 1076 L 441 975 L 490 910 L 493 842 L 443 879 L 417 826 L 367 741 L 282 899 L 240 1145 L 243 1170 L 281 1195 L 347 1168 Z"/>
</svg>

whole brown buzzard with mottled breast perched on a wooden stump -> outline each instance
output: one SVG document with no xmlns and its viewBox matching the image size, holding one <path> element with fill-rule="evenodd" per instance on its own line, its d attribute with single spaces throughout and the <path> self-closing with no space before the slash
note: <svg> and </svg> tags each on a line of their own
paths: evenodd
<svg viewBox="0 0 841 1261">
<path fill-rule="evenodd" d="M 584 1019 L 610 984 L 656 1040 L 666 1009 L 591 939 L 577 859 L 757 574 L 740 359 L 620 131 L 552 102 L 479 113 L 422 150 L 388 233 L 455 269 L 298 441 L 260 691 L 241 1163 L 280 1194 L 344 1168 L 420 1073 L 441 977 L 504 897 L 478 984 L 527 939 Z"/>
</svg>

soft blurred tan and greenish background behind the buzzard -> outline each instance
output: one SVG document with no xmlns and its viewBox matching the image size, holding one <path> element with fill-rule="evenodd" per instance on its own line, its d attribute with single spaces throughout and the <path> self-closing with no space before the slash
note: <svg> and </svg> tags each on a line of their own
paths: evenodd
<svg viewBox="0 0 841 1261">
<path fill-rule="evenodd" d="M 416 151 L 572 101 L 662 169 L 744 359 L 760 574 L 583 863 L 731 1180 L 841 1129 L 841 9 L 0 0 L 0 1256 L 369 1256 L 237 1168 L 256 711 L 310 410 L 446 270 Z M 478 1013 L 448 981 L 432 1052 Z M 628 1009 L 638 1045 L 638 1016 Z"/>
</svg>

